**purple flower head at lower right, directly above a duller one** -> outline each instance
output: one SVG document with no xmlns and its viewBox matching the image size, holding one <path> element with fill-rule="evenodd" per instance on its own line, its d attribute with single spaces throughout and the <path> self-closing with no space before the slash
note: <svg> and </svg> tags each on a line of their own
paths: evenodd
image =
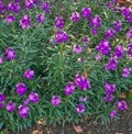
<svg viewBox="0 0 132 134">
<path fill-rule="evenodd" d="M 116 91 L 116 85 L 114 83 L 108 83 L 106 82 L 105 83 L 105 89 L 106 89 L 106 93 L 110 94 L 110 93 L 113 93 Z"/>
</svg>

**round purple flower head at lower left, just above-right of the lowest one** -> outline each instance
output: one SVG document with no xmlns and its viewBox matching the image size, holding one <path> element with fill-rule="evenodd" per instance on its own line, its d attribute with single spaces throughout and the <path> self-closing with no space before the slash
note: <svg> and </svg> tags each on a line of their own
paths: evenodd
<svg viewBox="0 0 132 134">
<path fill-rule="evenodd" d="M 37 92 L 32 92 L 29 94 L 29 100 L 31 103 L 37 103 L 40 101 L 40 96 Z"/>
</svg>

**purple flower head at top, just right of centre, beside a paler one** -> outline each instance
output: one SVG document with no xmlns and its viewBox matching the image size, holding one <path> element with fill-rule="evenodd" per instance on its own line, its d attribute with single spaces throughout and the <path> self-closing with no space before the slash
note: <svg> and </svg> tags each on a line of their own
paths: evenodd
<svg viewBox="0 0 132 134">
<path fill-rule="evenodd" d="M 81 15 L 82 15 L 85 19 L 88 19 L 88 20 L 90 21 L 91 9 L 88 8 L 88 7 L 84 7 L 84 8 L 82 8 L 82 11 L 81 11 Z"/>
</svg>

